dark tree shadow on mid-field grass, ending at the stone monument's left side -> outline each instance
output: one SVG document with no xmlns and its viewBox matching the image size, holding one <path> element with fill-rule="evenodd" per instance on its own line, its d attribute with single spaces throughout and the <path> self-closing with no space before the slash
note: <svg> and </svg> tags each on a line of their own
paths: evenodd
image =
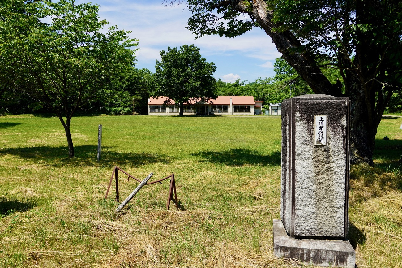
<svg viewBox="0 0 402 268">
<path fill-rule="evenodd" d="M 221 163 L 229 166 L 243 165 L 281 165 L 281 152 L 260 155 L 256 150 L 230 148 L 224 151 L 203 151 L 191 154 L 202 157 L 201 162 Z"/>
</svg>

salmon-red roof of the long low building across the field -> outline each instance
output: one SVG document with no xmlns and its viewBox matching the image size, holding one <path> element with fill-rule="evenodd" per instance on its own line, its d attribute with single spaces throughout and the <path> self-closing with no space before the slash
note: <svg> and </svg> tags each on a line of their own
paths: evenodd
<svg viewBox="0 0 402 268">
<path fill-rule="evenodd" d="M 215 99 L 210 99 L 207 101 L 209 104 L 213 105 L 230 105 L 230 98 L 232 98 L 233 105 L 255 105 L 253 96 L 218 96 Z M 154 97 L 150 97 L 150 101 L 148 101 L 148 105 L 163 105 L 164 101 L 166 101 L 168 97 L 161 96 L 158 99 Z M 198 98 L 196 101 L 190 101 L 190 103 L 185 104 L 195 104 L 199 102 L 201 98 Z M 174 101 L 170 101 L 168 104 L 175 104 Z"/>
</svg>

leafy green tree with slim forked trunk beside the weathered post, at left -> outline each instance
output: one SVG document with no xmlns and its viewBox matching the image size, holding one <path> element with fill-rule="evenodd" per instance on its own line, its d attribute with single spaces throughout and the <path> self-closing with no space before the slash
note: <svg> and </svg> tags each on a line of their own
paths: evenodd
<svg viewBox="0 0 402 268">
<path fill-rule="evenodd" d="M 0 4 L 0 58 L 8 80 L 57 114 L 74 156 L 70 123 L 74 112 L 133 66 L 136 39 L 99 20 L 97 5 L 74 0 L 4 0 Z M 50 23 L 46 23 L 50 21 Z"/>
</svg>

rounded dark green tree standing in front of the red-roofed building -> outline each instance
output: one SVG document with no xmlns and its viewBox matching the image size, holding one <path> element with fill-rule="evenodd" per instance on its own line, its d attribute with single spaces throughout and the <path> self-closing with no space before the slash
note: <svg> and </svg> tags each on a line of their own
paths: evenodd
<svg viewBox="0 0 402 268">
<path fill-rule="evenodd" d="M 167 103 L 174 101 L 179 104 L 183 115 L 183 103 L 201 98 L 203 101 L 216 99 L 214 94 L 215 64 L 201 58 L 199 48 L 194 45 L 183 45 L 170 48 L 165 53 L 160 51 L 162 60 L 156 60 L 154 74 L 155 89 L 151 92 L 154 97 L 166 96 Z"/>
</svg>

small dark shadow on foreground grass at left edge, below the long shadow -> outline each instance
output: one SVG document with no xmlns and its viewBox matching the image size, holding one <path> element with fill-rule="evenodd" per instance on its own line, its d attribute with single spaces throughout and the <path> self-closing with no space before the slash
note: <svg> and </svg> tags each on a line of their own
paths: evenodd
<svg viewBox="0 0 402 268">
<path fill-rule="evenodd" d="M 18 198 L 17 196 L 0 196 L 0 214 L 2 216 L 16 211 L 28 211 L 39 205 L 37 198 Z"/>
</svg>

